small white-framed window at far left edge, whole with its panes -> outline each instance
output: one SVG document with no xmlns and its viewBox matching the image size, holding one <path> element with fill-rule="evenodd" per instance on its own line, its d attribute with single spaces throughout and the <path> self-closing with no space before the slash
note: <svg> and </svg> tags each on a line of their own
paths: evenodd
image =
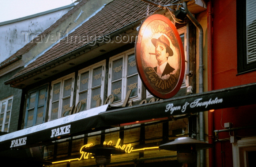
<svg viewBox="0 0 256 167">
<path fill-rule="evenodd" d="M 8 132 L 12 110 L 12 97 L 0 101 L 0 131 Z"/>
</svg>

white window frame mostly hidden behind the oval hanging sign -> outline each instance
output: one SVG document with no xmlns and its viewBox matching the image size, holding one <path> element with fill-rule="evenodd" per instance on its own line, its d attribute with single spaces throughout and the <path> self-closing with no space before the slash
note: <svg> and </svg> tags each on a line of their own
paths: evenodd
<svg viewBox="0 0 256 167">
<path fill-rule="evenodd" d="M 188 54 L 188 24 L 180 29 L 178 29 L 179 35 L 184 34 L 184 55 L 185 55 L 185 73 L 184 73 L 184 79 L 182 81 L 180 88 L 185 88 L 189 86 L 189 79 L 188 74 L 189 73 L 189 54 Z M 146 98 L 151 98 L 153 95 L 150 94 L 150 92 L 146 91 Z"/>
</svg>

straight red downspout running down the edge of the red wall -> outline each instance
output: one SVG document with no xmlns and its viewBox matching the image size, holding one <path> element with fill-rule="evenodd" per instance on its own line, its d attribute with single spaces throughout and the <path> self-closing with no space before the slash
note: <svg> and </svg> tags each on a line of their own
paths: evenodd
<svg viewBox="0 0 256 167">
<path fill-rule="evenodd" d="M 212 86 L 212 1 L 210 0 L 207 4 L 207 38 L 208 38 L 208 91 L 213 90 Z M 213 112 L 208 111 L 208 142 L 213 144 L 214 142 L 214 123 L 213 123 Z M 214 166 L 213 161 L 213 148 L 209 148 L 209 167 Z"/>
</svg>

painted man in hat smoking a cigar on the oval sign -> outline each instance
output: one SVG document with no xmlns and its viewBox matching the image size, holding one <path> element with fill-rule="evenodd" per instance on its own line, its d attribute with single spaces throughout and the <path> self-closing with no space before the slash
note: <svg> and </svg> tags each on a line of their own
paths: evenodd
<svg viewBox="0 0 256 167">
<path fill-rule="evenodd" d="M 155 46 L 155 58 L 157 59 L 157 67 L 154 67 L 155 73 L 160 78 L 170 75 L 174 68 L 167 62 L 168 57 L 173 56 L 169 40 L 161 35 L 158 39 L 151 39 L 151 42 Z"/>
</svg>

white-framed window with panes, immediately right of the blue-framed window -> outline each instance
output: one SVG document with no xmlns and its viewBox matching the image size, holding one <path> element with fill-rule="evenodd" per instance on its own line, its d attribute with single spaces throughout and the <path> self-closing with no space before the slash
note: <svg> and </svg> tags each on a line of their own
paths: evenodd
<svg viewBox="0 0 256 167">
<path fill-rule="evenodd" d="M 64 111 L 72 106 L 74 76 L 72 73 L 52 82 L 49 120 L 61 118 Z"/>
</svg>

